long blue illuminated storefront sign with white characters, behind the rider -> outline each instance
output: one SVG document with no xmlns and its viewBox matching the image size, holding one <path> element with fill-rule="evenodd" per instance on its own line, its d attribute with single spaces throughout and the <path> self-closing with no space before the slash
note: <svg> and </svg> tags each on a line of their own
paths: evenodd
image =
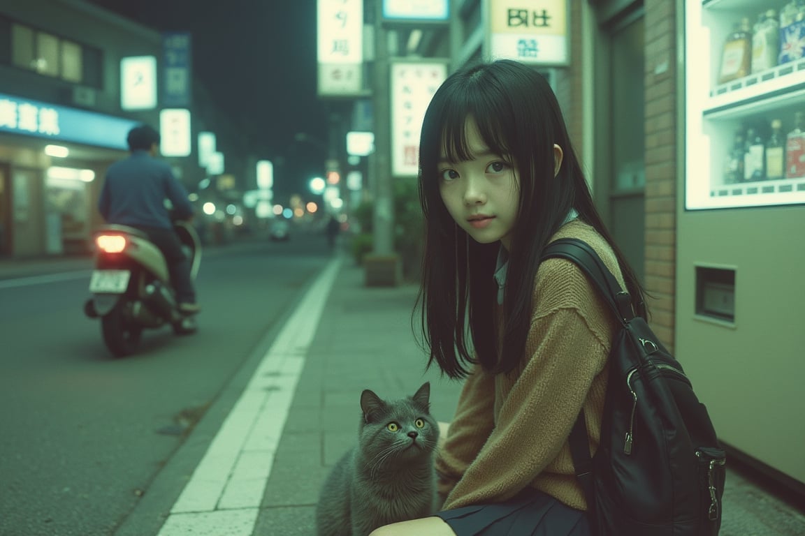
<svg viewBox="0 0 805 536">
<path fill-rule="evenodd" d="M 0 93 L 0 132 L 128 149 L 136 121 Z"/>
</svg>

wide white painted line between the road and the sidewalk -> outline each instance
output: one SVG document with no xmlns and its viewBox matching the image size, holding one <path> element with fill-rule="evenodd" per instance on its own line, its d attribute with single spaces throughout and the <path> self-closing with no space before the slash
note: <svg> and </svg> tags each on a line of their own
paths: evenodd
<svg viewBox="0 0 805 536">
<path fill-rule="evenodd" d="M 250 536 L 324 304 L 341 266 L 330 261 L 254 371 L 159 536 Z"/>
</svg>

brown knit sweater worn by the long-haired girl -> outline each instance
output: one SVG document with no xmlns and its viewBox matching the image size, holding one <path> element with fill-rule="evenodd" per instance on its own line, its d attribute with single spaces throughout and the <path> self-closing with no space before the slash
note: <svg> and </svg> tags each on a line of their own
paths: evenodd
<svg viewBox="0 0 805 536">
<path fill-rule="evenodd" d="M 587 242 L 623 285 L 612 249 L 592 227 L 573 220 L 551 241 L 559 238 Z M 449 482 L 440 485 L 447 494 L 444 509 L 506 501 L 528 486 L 586 509 L 568 436 L 584 407 L 590 452 L 597 449 L 616 328 L 576 264 L 564 259 L 540 264 L 522 366 L 497 375 L 475 366 L 465 380 L 436 459 L 437 471 Z"/>
</svg>

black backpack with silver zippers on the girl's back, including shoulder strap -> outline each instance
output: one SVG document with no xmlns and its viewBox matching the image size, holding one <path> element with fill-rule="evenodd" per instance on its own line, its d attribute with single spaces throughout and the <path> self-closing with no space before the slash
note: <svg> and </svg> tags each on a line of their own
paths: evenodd
<svg viewBox="0 0 805 536">
<path fill-rule="evenodd" d="M 593 534 L 718 534 L 726 456 L 682 366 L 634 315 L 630 295 L 587 243 L 556 240 L 543 252 L 543 259 L 549 257 L 577 264 L 621 324 L 609 354 L 595 455 L 584 411 L 570 435 Z"/>
</svg>

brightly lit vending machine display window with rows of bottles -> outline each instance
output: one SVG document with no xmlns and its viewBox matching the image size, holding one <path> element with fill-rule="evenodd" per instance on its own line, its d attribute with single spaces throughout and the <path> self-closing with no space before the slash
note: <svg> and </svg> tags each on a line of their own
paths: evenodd
<svg viewBox="0 0 805 536">
<path fill-rule="evenodd" d="M 805 0 L 685 6 L 686 210 L 805 203 Z"/>
</svg>

